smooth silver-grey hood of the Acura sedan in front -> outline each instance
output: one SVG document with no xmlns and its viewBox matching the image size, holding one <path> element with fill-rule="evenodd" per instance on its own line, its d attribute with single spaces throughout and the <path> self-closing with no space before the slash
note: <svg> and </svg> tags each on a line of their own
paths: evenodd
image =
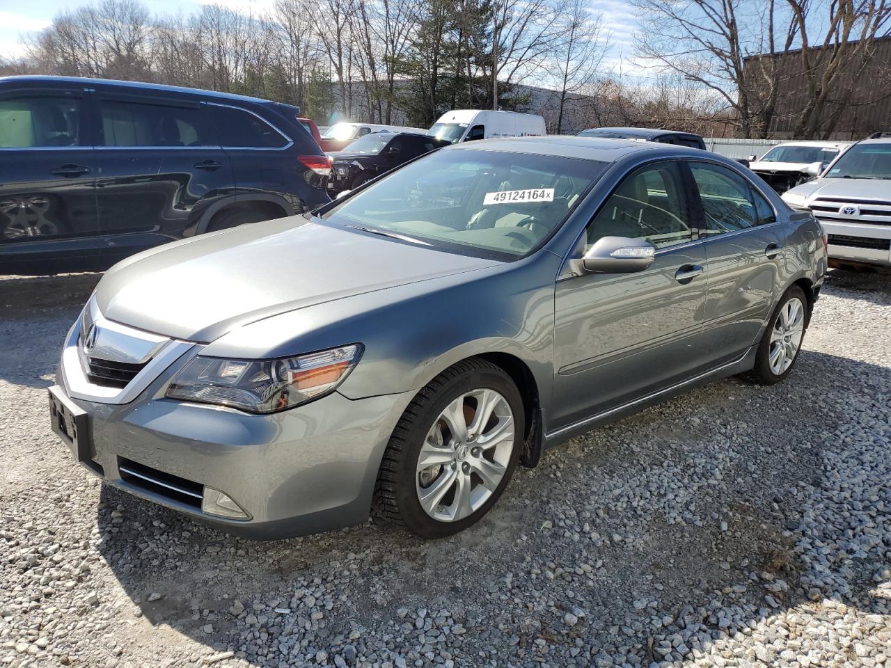
<svg viewBox="0 0 891 668">
<path fill-rule="evenodd" d="M 291 217 L 130 257 L 95 298 L 112 321 L 208 342 L 305 306 L 495 264 Z"/>
</svg>

